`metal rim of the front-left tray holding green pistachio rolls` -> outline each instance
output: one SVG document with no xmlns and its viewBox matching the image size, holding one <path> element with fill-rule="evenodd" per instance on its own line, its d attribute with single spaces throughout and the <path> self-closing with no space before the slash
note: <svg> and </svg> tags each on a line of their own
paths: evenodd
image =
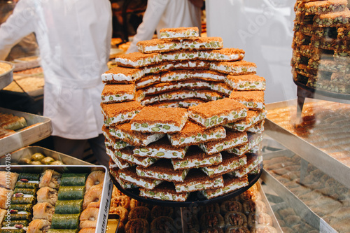
<svg viewBox="0 0 350 233">
<path fill-rule="evenodd" d="M 63 172 L 90 172 L 95 170 L 102 170 L 105 172 L 104 175 L 104 185 L 102 190 L 101 204 L 99 206 L 99 216 L 97 218 L 97 226 L 95 233 L 106 232 L 107 220 L 109 216 L 109 206 L 111 205 L 111 195 L 113 190 L 113 183 L 109 178 L 109 171 L 104 166 L 78 166 L 78 165 L 60 165 L 60 166 L 46 166 L 46 165 L 30 165 L 30 166 L 20 166 L 20 165 L 10 165 L 10 166 L 0 166 L 0 171 L 8 171 L 6 169 L 10 167 L 11 172 L 35 172 L 41 173 L 45 169 L 54 169 L 59 173 Z"/>
</svg>

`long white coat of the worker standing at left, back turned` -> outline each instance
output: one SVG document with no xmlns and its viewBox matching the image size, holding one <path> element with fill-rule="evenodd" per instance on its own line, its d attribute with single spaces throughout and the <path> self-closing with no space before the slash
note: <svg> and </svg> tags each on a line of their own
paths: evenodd
<svg viewBox="0 0 350 233">
<path fill-rule="evenodd" d="M 52 135 L 90 139 L 102 133 L 99 106 L 111 47 L 109 0 L 21 0 L 0 26 L 0 59 L 34 32 L 45 75 L 43 115 Z"/>
</svg>

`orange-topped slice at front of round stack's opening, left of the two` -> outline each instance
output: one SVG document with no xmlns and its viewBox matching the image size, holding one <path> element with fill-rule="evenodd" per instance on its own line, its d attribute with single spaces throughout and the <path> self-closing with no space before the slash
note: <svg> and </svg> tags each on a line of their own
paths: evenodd
<svg viewBox="0 0 350 233">
<path fill-rule="evenodd" d="M 184 108 L 156 108 L 146 106 L 132 118 L 131 129 L 137 132 L 174 133 L 186 124 L 188 112 Z"/>
</svg>

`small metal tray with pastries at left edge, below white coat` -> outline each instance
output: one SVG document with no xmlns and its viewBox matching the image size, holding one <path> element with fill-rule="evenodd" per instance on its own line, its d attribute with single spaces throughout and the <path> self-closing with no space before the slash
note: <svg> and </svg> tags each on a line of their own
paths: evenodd
<svg viewBox="0 0 350 233">
<path fill-rule="evenodd" d="M 0 108 L 0 155 L 41 141 L 51 133 L 50 118 Z"/>
</svg>

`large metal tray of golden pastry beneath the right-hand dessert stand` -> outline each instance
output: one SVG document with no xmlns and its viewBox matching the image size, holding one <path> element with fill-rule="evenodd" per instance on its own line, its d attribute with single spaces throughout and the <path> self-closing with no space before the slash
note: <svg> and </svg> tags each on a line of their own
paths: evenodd
<svg viewBox="0 0 350 233">
<path fill-rule="evenodd" d="M 267 104 L 265 133 L 346 188 L 350 181 L 350 105 L 307 99 L 295 124 L 297 101 Z M 305 169 L 303 171 L 306 171 Z M 305 176 L 306 174 L 303 174 Z"/>
</svg>

